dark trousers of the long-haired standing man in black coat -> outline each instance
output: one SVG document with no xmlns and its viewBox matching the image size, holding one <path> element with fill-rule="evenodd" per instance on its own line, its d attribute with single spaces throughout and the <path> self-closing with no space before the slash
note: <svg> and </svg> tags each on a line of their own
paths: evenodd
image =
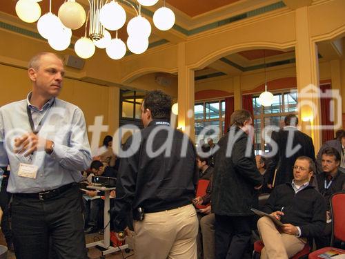
<svg viewBox="0 0 345 259">
<path fill-rule="evenodd" d="M 217 259 L 241 259 L 250 242 L 253 216 L 215 215 Z"/>
</svg>

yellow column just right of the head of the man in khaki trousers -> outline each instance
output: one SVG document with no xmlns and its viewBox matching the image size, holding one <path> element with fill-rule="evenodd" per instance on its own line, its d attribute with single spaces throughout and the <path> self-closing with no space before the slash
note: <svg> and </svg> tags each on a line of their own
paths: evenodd
<svg viewBox="0 0 345 259">
<path fill-rule="evenodd" d="M 179 118 L 177 128 L 181 128 L 191 140 L 195 140 L 194 130 L 194 102 L 195 85 L 194 70 L 186 66 L 186 45 L 184 42 L 178 46 L 178 90 L 177 102 L 179 104 Z"/>
</svg>

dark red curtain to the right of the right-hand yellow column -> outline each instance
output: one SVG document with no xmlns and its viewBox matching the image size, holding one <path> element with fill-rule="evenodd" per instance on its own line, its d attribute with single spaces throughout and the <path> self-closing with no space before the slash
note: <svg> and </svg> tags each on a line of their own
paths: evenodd
<svg viewBox="0 0 345 259">
<path fill-rule="evenodd" d="M 331 84 L 324 84 L 320 86 L 320 90 L 324 93 L 326 90 L 331 90 Z M 321 105 L 321 123 L 322 125 L 334 125 L 333 122 L 330 121 L 330 111 L 334 107 L 330 107 L 331 98 L 321 98 L 320 105 Z M 322 130 L 322 143 L 326 142 L 327 140 L 333 140 L 334 138 L 334 129 L 330 130 Z"/>
</svg>

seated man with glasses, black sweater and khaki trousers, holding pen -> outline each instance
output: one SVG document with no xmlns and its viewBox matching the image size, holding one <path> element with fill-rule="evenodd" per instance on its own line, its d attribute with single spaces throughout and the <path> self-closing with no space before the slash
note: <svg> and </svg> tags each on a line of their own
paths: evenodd
<svg viewBox="0 0 345 259">
<path fill-rule="evenodd" d="M 322 235 L 326 223 L 326 204 L 322 195 L 309 184 L 315 164 L 309 157 L 297 157 L 293 181 L 273 189 L 264 209 L 284 227 L 276 227 L 268 217 L 257 222 L 264 249 L 261 258 L 290 258 L 301 251 L 306 238 Z"/>
</svg>

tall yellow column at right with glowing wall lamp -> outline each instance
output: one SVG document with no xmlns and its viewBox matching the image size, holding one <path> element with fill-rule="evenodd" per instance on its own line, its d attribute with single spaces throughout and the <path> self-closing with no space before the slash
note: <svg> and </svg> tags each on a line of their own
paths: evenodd
<svg viewBox="0 0 345 259">
<path fill-rule="evenodd" d="M 298 91 L 298 117 L 302 131 L 313 138 L 315 153 L 321 146 L 319 64 L 317 46 L 311 40 L 308 7 L 298 8 L 296 14 L 296 73 Z"/>
</svg>

